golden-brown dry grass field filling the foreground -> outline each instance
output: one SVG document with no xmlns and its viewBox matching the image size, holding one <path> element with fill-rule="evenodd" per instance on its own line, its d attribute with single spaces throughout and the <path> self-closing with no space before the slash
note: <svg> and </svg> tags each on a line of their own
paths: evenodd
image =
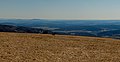
<svg viewBox="0 0 120 62">
<path fill-rule="evenodd" d="M 0 62 L 120 62 L 120 40 L 0 33 Z"/>
</svg>

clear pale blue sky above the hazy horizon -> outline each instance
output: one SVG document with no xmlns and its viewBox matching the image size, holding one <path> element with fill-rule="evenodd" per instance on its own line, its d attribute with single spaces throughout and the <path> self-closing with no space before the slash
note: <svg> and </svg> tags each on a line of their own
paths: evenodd
<svg viewBox="0 0 120 62">
<path fill-rule="evenodd" d="M 0 18 L 120 20 L 120 0 L 0 0 Z"/>
</svg>

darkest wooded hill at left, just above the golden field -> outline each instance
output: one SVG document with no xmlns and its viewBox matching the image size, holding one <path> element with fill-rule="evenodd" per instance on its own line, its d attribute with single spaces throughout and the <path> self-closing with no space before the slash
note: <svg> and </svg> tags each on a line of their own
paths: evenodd
<svg viewBox="0 0 120 62">
<path fill-rule="evenodd" d="M 44 30 L 40 28 L 31 28 L 24 26 L 14 26 L 14 25 L 0 25 L 0 32 L 16 32 L 16 33 L 41 33 L 50 34 L 50 30 Z"/>
</svg>

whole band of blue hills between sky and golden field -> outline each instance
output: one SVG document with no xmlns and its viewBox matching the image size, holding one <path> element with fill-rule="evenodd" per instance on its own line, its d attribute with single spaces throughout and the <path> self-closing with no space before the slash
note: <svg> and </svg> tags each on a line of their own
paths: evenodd
<svg viewBox="0 0 120 62">
<path fill-rule="evenodd" d="M 0 31 L 118 38 L 120 20 L 0 19 Z"/>
</svg>

